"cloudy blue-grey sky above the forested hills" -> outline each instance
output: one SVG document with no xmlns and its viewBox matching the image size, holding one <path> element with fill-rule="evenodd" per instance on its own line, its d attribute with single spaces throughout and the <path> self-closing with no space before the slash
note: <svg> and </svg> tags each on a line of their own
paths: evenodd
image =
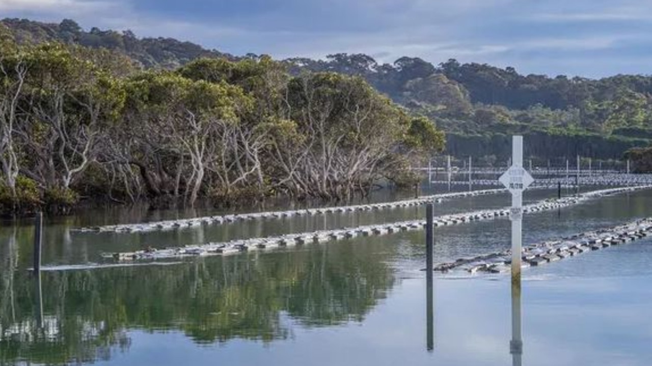
<svg viewBox="0 0 652 366">
<path fill-rule="evenodd" d="M 275 58 L 366 53 L 522 74 L 652 74 L 647 0 L 0 0 L 0 18 L 130 29 Z"/>
</svg>

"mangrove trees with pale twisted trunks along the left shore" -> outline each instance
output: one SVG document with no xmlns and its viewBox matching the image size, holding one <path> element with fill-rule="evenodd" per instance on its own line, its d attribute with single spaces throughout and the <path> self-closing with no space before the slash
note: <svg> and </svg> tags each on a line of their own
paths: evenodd
<svg viewBox="0 0 652 366">
<path fill-rule="evenodd" d="M 411 186 L 445 143 L 361 77 L 292 76 L 264 55 L 145 70 L 104 48 L 0 42 L 4 216 L 82 199 L 348 201 L 379 180 Z"/>
</svg>

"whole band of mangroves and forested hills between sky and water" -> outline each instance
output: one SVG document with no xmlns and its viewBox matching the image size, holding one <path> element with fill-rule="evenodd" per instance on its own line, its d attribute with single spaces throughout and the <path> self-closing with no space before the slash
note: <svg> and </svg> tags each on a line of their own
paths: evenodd
<svg viewBox="0 0 652 366">
<path fill-rule="evenodd" d="M 409 168 L 444 147 L 459 161 L 507 161 L 514 134 L 535 166 L 579 155 L 652 167 L 652 76 L 359 53 L 273 60 L 67 19 L 0 20 L 0 42 L 9 216 L 80 201 L 349 201 L 379 181 L 411 188 Z"/>
</svg>

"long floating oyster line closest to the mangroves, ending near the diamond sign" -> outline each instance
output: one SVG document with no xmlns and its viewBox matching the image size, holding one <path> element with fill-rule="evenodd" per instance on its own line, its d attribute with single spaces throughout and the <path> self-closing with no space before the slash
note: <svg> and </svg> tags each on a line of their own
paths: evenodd
<svg viewBox="0 0 652 366">
<path fill-rule="evenodd" d="M 494 190 L 476 190 L 476 191 L 466 191 L 466 192 L 441 193 L 437 195 L 419 197 L 418 199 L 406 199 L 402 201 L 394 201 L 394 202 L 386 202 L 386 203 L 307 208 L 303 210 L 289 210 L 289 211 L 252 212 L 248 214 L 231 214 L 231 215 L 222 215 L 222 216 L 203 216 L 200 218 L 153 221 L 149 223 L 130 223 L 130 224 L 123 224 L 123 225 L 83 227 L 74 230 L 82 231 L 82 232 L 148 232 L 148 231 L 175 230 L 175 229 L 183 229 L 187 227 L 197 227 L 201 225 L 220 225 L 222 223 L 230 223 L 235 221 L 248 221 L 252 219 L 288 218 L 292 216 L 314 216 L 314 215 L 327 214 L 333 212 L 359 212 L 359 211 L 369 211 L 369 210 L 383 210 L 388 208 L 404 208 L 409 206 L 420 206 L 422 204 L 425 204 L 426 202 L 432 202 L 432 201 L 441 202 L 445 199 L 471 197 L 477 195 L 489 195 L 495 193 L 503 193 L 505 191 L 507 190 L 501 188 L 501 189 L 494 189 Z"/>
</svg>

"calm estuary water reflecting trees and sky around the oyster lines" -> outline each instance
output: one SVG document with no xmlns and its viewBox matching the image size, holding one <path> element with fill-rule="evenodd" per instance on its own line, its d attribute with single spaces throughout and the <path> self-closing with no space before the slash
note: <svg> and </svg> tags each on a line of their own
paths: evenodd
<svg viewBox="0 0 652 366">
<path fill-rule="evenodd" d="M 524 216 L 524 243 L 652 216 L 652 195 L 605 197 Z M 530 191 L 527 201 L 556 194 Z M 436 214 L 507 204 L 469 197 Z M 32 230 L 0 229 L 0 364 L 510 365 L 509 276 L 434 281 L 434 350 L 426 350 L 424 232 L 400 232 L 230 257 L 78 269 L 102 251 L 199 243 L 419 218 L 422 208 L 235 223 L 178 232 L 89 234 L 131 213 L 46 225 L 42 327 Z M 321 220 L 321 221 L 320 221 Z M 332 225 L 332 226 L 329 226 Z M 524 271 L 525 365 L 647 365 L 652 359 L 652 242 L 641 240 Z M 509 247 L 509 221 L 438 228 L 437 262 Z M 164 264 L 164 265 L 161 265 Z"/>
</svg>

